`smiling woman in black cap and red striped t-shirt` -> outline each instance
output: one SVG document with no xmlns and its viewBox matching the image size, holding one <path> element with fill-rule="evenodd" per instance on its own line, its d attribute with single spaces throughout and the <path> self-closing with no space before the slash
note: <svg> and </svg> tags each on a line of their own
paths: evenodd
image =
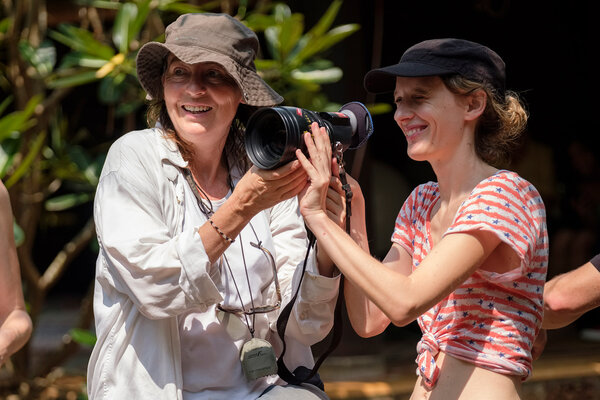
<svg viewBox="0 0 600 400">
<path fill-rule="evenodd" d="M 394 91 L 408 155 L 429 162 L 437 182 L 405 201 L 380 262 L 368 254 L 356 184 L 356 243 L 327 218 L 328 138 L 305 138 L 310 161 L 297 156 L 311 186 L 300 209 L 347 277 L 352 325 L 368 337 L 418 321 L 413 399 L 518 399 L 542 322 L 548 238 L 537 190 L 498 169 L 527 120 L 504 63 L 477 43 L 428 40 L 370 71 L 365 86 Z"/>
</svg>

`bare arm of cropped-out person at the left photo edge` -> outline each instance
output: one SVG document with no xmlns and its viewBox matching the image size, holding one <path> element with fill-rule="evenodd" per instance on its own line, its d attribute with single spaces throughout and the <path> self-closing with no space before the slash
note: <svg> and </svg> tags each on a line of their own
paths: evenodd
<svg viewBox="0 0 600 400">
<path fill-rule="evenodd" d="M 0 181 L 0 366 L 27 343 L 32 323 L 25 310 L 13 235 L 10 199 Z"/>
</svg>

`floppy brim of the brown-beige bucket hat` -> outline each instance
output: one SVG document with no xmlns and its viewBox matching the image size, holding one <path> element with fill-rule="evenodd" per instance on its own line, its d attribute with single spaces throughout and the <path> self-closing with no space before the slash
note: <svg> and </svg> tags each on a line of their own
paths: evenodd
<svg viewBox="0 0 600 400">
<path fill-rule="evenodd" d="M 226 55 L 200 47 L 166 45 L 159 42 L 146 43 L 136 58 L 138 80 L 149 98 L 162 97 L 162 69 L 164 59 L 169 53 L 173 53 L 187 64 L 215 62 L 223 66 L 242 91 L 245 104 L 263 107 L 283 102 L 283 97 L 267 85 L 256 71 L 239 64 Z"/>
</svg>

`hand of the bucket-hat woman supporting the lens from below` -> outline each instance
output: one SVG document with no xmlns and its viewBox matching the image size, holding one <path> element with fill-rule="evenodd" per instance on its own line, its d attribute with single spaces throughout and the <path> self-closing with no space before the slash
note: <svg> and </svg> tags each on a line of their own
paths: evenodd
<svg viewBox="0 0 600 400">
<path fill-rule="evenodd" d="M 252 166 L 233 192 L 235 201 L 250 215 L 296 196 L 306 186 L 307 175 L 298 160 L 274 169 Z"/>
</svg>

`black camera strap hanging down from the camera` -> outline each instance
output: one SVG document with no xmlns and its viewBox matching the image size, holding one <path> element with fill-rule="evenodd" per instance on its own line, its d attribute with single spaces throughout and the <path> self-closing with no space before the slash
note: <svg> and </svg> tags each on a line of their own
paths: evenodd
<svg viewBox="0 0 600 400">
<path fill-rule="evenodd" d="M 346 232 L 350 234 L 350 216 L 351 214 L 351 201 L 352 201 L 352 191 L 350 190 L 350 185 L 348 184 L 346 178 L 346 171 L 344 170 L 344 161 L 342 155 L 342 145 L 339 142 L 335 143 L 335 157 L 339 165 L 339 177 L 342 182 L 342 189 L 344 189 L 345 197 L 346 197 Z M 310 254 L 311 248 L 314 247 L 316 238 L 315 235 L 307 230 L 309 245 L 306 250 L 306 256 L 304 257 L 304 263 L 302 265 L 302 274 L 300 275 L 300 282 L 298 283 L 298 288 L 294 293 L 294 296 L 291 298 L 288 304 L 281 310 L 279 317 L 277 318 L 277 334 L 281 339 L 283 344 L 281 355 L 277 359 L 277 374 L 281 379 L 286 381 L 287 383 L 293 385 L 299 385 L 301 383 L 310 383 L 312 385 L 317 386 L 321 390 L 325 390 L 323 381 L 319 377 L 317 373 L 323 361 L 336 349 L 339 345 L 340 340 L 342 339 L 343 332 L 343 319 L 342 319 L 342 308 L 344 305 L 344 275 L 340 275 L 340 287 L 338 292 L 337 301 L 335 304 L 335 310 L 333 313 L 333 327 L 331 328 L 330 336 L 331 341 L 329 343 L 329 347 L 319 356 L 317 361 L 315 362 L 314 367 L 308 369 L 307 367 L 300 366 L 291 372 L 283 361 L 283 356 L 285 354 L 286 345 L 285 345 L 285 329 L 287 327 L 287 322 L 290 318 L 290 314 L 292 312 L 292 308 L 294 303 L 296 302 L 296 298 L 298 297 L 298 293 L 300 292 L 300 286 L 302 285 L 302 278 L 304 277 L 304 272 L 306 271 L 306 264 L 308 262 L 308 255 Z"/>
</svg>

